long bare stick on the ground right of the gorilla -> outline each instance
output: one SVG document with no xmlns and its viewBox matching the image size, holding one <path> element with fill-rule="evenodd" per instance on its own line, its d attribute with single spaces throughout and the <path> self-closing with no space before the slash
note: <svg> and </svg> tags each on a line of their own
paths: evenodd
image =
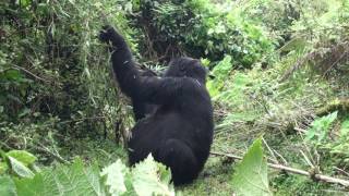
<svg viewBox="0 0 349 196">
<path fill-rule="evenodd" d="M 237 160 L 242 160 L 242 157 L 239 157 L 239 156 L 236 156 L 236 155 L 228 155 L 228 154 L 215 152 L 215 151 L 212 151 L 210 155 L 228 157 L 228 158 L 237 159 Z M 309 176 L 309 177 L 317 180 L 317 181 L 323 181 L 323 182 L 333 183 L 333 184 L 340 184 L 340 185 L 342 185 L 345 187 L 349 187 L 349 181 L 346 181 L 346 180 L 336 179 L 336 177 L 322 175 L 322 174 L 316 174 L 316 173 L 313 174 L 312 172 L 308 172 L 308 171 L 304 171 L 304 170 L 299 170 L 299 169 L 286 167 L 286 166 L 282 166 L 282 164 L 274 164 L 274 163 L 267 163 L 267 164 L 268 164 L 269 168 L 273 168 L 273 169 L 276 169 L 276 170 L 282 170 L 282 171 L 286 171 L 286 172 L 289 172 L 289 173 L 305 175 L 305 176 Z"/>
</svg>

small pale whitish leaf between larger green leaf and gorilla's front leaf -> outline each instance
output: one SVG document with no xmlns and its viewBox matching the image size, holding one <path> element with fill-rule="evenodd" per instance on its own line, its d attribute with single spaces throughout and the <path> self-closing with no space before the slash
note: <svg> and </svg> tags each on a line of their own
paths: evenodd
<svg viewBox="0 0 349 196">
<path fill-rule="evenodd" d="M 128 168 L 120 159 L 103 169 L 100 174 L 107 176 L 106 184 L 109 186 L 109 193 L 112 196 L 121 195 L 128 191 L 124 179 L 128 172 Z"/>
</svg>

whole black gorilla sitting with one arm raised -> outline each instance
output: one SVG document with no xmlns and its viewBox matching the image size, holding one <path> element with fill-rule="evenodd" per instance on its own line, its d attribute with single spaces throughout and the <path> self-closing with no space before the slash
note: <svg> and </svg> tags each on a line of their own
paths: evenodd
<svg viewBox="0 0 349 196">
<path fill-rule="evenodd" d="M 161 77 L 142 74 L 131 51 L 112 27 L 99 38 L 110 42 L 111 62 L 121 90 L 133 102 L 136 124 L 128 142 L 133 166 L 152 152 L 171 169 L 174 185 L 192 182 L 203 169 L 213 140 L 213 107 L 198 60 L 172 60 Z"/>
</svg>

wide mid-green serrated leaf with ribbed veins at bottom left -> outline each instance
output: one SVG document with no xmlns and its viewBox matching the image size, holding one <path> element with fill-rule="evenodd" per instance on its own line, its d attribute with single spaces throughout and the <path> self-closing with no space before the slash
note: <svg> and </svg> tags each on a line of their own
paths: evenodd
<svg viewBox="0 0 349 196">
<path fill-rule="evenodd" d="M 33 179 L 15 180 L 19 196 L 105 196 L 97 167 L 84 168 L 81 160 L 37 173 Z"/>
</svg>

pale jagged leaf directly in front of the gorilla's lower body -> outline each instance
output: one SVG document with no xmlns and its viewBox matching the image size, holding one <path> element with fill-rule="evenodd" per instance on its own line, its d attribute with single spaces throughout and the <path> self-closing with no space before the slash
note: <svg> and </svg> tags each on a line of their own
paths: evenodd
<svg viewBox="0 0 349 196">
<path fill-rule="evenodd" d="M 171 173 L 149 155 L 132 170 L 132 184 L 140 196 L 174 195 L 170 184 Z"/>
</svg>

